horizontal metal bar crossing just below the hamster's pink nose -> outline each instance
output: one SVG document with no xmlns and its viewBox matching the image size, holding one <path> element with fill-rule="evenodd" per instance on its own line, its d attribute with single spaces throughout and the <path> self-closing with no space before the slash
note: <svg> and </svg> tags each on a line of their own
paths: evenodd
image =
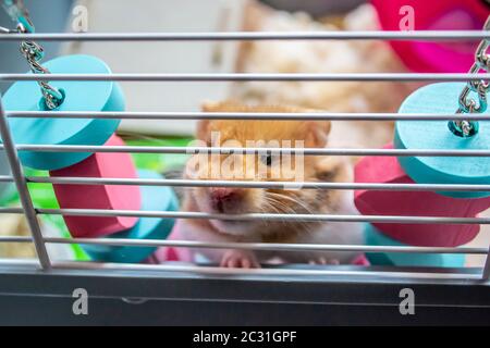
<svg viewBox="0 0 490 348">
<path fill-rule="evenodd" d="M 136 216 L 162 219 L 213 219 L 226 221 L 304 221 L 304 222 L 375 222 L 411 224 L 490 224 L 490 217 L 399 216 L 399 215 L 343 215 L 343 214 L 210 214 L 203 212 L 140 211 L 110 209 L 36 209 L 40 214 L 69 216 Z"/>
</svg>

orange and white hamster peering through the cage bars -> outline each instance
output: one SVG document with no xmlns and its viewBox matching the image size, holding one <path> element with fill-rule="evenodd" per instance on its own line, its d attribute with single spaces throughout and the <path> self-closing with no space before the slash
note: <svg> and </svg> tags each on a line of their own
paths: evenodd
<svg viewBox="0 0 490 348">
<path fill-rule="evenodd" d="M 304 110 L 257 105 L 247 107 L 237 102 L 208 102 L 206 112 L 299 112 Z M 235 121 L 204 120 L 197 126 L 197 139 L 209 147 L 261 147 L 265 141 L 299 141 L 301 147 L 324 148 L 331 123 L 329 121 Z M 219 137 L 219 140 L 217 140 Z M 219 141 L 219 142 L 218 142 Z M 253 142 L 250 142 L 253 141 Z M 258 141 L 258 142 L 257 142 Z M 265 146 L 270 147 L 270 146 Z M 283 146 L 284 147 L 284 146 Z M 185 178 L 232 179 L 267 182 L 335 182 L 353 181 L 351 162 L 343 157 L 304 156 L 302 163 L 290 159 L 279 175 L 272 172 L 281 166 L 284 158 L 273 154 L 254 156 L 252 160 L 243 156 L 235 166 L 233 177 L 213 169 L 223 170 L 223 164 L 236 154 L 194 154 L 184 170 Z M 205 164 L 196 165 L 198 161 Z M 294 162 L 291 164 L 291 162 Z M 237 163 L 237 164 L 236 164 Z M 260 165 L 259 165 L 260 163 Z M 257 173 L 257 167 L 266 167 Z M 247 171 L 247 170 L 250 171 Z M 301 177 L 294 174 L 301 172 Z M 274 172 L 278 174 L 278 172 Z M 293 174 L 293 175 L 291 175 Z M 298 179 L 299 178 L 299 179 Z M 243 214 L 356 214 L 352 190 L 297 189 L 290 188 L 237 188 L 237 187 L 187 187 L 184 190 L 183 210 L 189 212 Z M 357 223 L 304 222 L 304 221 L 224 221 L 194 220 L 179 221 L 181 237 L 185 240 L 219 243 L 287 243 L 287 244 L 363 244 L 362 228 Z M 213 263 L 224 268 L 259 268 L 260 263 L 280 259 L 287 263 L 350 263 L 356 252 L 328 251 L 252 251 L 226 249 L 192 249 Z"/>
</svg>

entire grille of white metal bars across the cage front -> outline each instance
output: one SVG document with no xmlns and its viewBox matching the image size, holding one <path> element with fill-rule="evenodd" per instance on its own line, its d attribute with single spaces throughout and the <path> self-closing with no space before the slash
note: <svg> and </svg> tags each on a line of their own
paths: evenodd
<svg viewBox="0 0 490 348">
<path fill-rule="evenodd" d="M 319 33 L 121 33 L 121 34 L 0 34 L 0 41 L 17 40 L 64 40 L 64 41 L 197 41 L 197 40 L 364 40 L 364 39 L 397 39 L 397 40 L 477 40 L 489 39 L 488 32 L 319 32 Z M 0 74 L 0 80 L 120 80 L 120 82 L 415 82 L 415 80 L 479 80 L 489 79 L 490 74 L 411 74 L 411 73 L 345 73 L 345 74 L 50 74 L 50 75 L 23 75 Z M 243 183 L 223 181 L 144 181 L 122 178 L 46 178 L 25 177 L 17 151 L 34 150 L 48 152 L 132 152 L 132 153 L 261 153 L 270 151 L 273 153 L 302 153 L 305 156 L 440 156 L 440 157 L 489 157 L 490 150 L 464 151 L 464 150 L 385 150 L 385 149 L 297 149 L 297 148 L 204 148 L 204 147 L 101 147 L 101 146 L 48 146 L 48 145 L 14 145 L 8 127 L 8 117 L 50 117 L 49 112 L 5 112 L 3 109 L 0 117 L 1 135 L 4 139 L 4 149 L 9 156 L 12 166 L 12 176 L 0 176 L 0 182 L 15 182 L 21 195 L 23 209 L 0 208 L 0 213 L 25 213 L 32 229 L 33 238 L 29 237 L 1 237 L 0 243 L 35 243 L 39 261 L 45 270 L 51 266 L 49 254 L 46 252 L 45 244 L 97 244 L 113 246 L 180 246 L 188 248 L 235 248 L 259 249 L 259 250 L 335 250 L 352 251 L 364 250 L 366 252 L 422 252 L 422 253 L 470 253 L 487 254 L 486 265 L 481 274 L 456 274 L 436 272 L 364 272 L 364 271 L 311 271 L 306 270 L 260 270 L 260 271 L 230 271 L 215 268 L 197 266 L 155 266 L 163 271 L 183 271 L 201 274 L 308 274 L 308 275 L 369 275 L 388 277 L 422 277 L 422 278 L 461 278 L 461 279 L 488 279 L 490 276 L 490 251 L 486 248 L 424 248 L 424 247 L 368 247 L 368 246 L 327 246 L 327 245 L 273 245 L 273 244 L 213 244 L 191 243 L 185 240 L 127 240 L 127 239 L 87 239 L 87 238 L 50 238 L 42 237 L 36 214 L 63 214 L 63 215 L 89 215 L 89 216 L 150 216 L 150 217 L 180 217 L 180 219 L 221 219 L 221 220 L 297 220 L 304 221 L 331 221 L 331 222 L 379 222 L 379 223 L 454 223 L 454 224 L 490 224 L 487 217 L 445 217 L 445 216 L 358 216 L 335 214 L 206 214 L 197 212 L 151 212 L 151 211 L 121 211 L 121 210 L 89 210 L 89 209 L 35 209 L 29 197 L 27 183 L 47 184 L 79 184 L 79 185 L 166 185 L 166 186 L 237 186 L 237 187 L 287 187 L 291 183 Z M 488 115 L 440 115 L 440 114 L 406 114 L 395 113 L 201 113 L 201 112 L 60 112 L 58 116 L 65 117 L 107 117 L 107 119 L 137 119 L 137 120 L 367 120 L 367 121 L 391 121 L 391 120 L 481 120 L 489 121 Z M 442 185 L 442 184 L 412 184 L 412 185 L 382 185 L 382 184 L 348 184 L 348 183 L 293 183 L 304 188 L 328 188 L 328 189 L 391 189 L 391 190 L 489 190 L 489 185 Z M 1 263 L 1 262 L 0 262 Z M 149 270 L 149 265 L 111 265 L 90 264 L 81 262 L 53 262 L 59 269 L 106 269 L 106 270 Z"/>
</svg>

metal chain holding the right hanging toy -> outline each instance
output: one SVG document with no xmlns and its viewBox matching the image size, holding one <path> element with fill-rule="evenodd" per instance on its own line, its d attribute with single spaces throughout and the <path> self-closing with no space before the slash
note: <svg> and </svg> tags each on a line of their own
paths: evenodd
<svg viewBox="0 0 490 348">
<path fill-rule="evenodd" d="M 490 16 L 483 26 L 485 30 L 490 30 Z M 490 72 L 490 53 L 488 49 L 490 41 L 488 39 L 481 40 L 475 53 L 475 63 L 469 70 L 470 74 L 478 74 L 480 70 L 486 73 Z M 488 80 L 471 80 L 468 82 L 463 91 L 460 95 L 460 108 L 456 113 L 483 113 L 488 108 L 487 92 L 489 90 L 490 84 Z M 469 94 L 475 92 L 478 96 L 478 101 L 470 97 Z M 470 137 L 478 130 L 478 123 L 461 120 L 452 121 L 450 123 L 450 128 L 462 137 Z"/>
</svg>

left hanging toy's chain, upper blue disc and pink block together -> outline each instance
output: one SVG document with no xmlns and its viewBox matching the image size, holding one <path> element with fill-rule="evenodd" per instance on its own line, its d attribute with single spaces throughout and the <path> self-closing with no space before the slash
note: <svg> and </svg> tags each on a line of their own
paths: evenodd
<svg viewBox="0 0 490 348">
<path fill-rule="evenodd" d="M 22 1 L 4 0 L 4 8 L 17 23 L 17 33 L 34 33 Z M 68 55 L 41 65 L 42 48 L 33 41 L 21 42 L 21 52 L 32 74 L 110 74 L 101 60 L 89 55 Z M 114 136 L 120 120 L 63 117 L 64 111 L 83 113 L 123 111 L 124 98 L 113 82 L 19 82 L 4 95 L 8 111 L 45 111 L 48 117 L 11 117 L 13 139 L 23 145 L 124 145 Z M 81 153 L 20 151 L 24 165 L 49 170 L 53 177 L 137 177 L 128 153 Z M 139 210 L 142 199 L 136 186 L 53 185 L 61 209 Z M 74 237 L 103 236 L 132 228 L 137 217 L 63 216 Z"/>
</svg>

